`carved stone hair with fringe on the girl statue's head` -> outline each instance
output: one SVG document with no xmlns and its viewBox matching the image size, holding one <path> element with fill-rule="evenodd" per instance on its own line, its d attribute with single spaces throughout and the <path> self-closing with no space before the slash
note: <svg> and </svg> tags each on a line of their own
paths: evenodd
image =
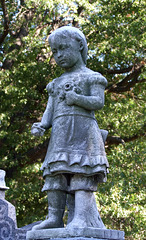
<svg viewBox="0 0 146 240">
<path fill-rule="evenodd" d="M 64 26 L 56 29 L 54 32 L 51 33 L 49 36 L 49 43 L 53 43 L 54 38 L 56 35 L 61 35 L 63 38 L 66 38 L 69 36 L 70 38 L 73 38 L 77 40 L 78 42 L 82 42 L 83 44 L 83 49 L 81 50 L 81 55 L 84 63 L 86 64 L 87 62 L 87 52 L 88 52 L 88 47 L 87 47 L 87 42 L 84 34 L 75 27 L 70 27 L 70 26 Z"/>
</svg>

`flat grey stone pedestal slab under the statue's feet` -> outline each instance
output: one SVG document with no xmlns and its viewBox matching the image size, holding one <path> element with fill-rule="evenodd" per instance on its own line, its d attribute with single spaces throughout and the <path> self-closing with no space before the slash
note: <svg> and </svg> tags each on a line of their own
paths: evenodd
<svg viewBox="0 0 146 240">
<path fill-rule="evenodd" d="M 100 228 L 52 228 L 28 231 L 26 240 L 124 240 L 124 232 Z"/>
</svg>

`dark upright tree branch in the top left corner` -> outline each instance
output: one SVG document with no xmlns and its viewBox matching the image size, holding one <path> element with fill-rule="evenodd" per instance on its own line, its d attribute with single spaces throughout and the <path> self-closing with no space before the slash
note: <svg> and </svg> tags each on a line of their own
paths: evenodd
<svg viewBox="0 0 146 240">
<path fill-rule="evenodd" d="M 3 33 L 0 35 L 0 45 L 1 45 L 9 33 L 9 15 L 7 12 L 5 0 L 0 0 L 0 2 L 1 2 L 3 16 L 4 16 L 4 30 L 3 30 Z"/>
</svg>

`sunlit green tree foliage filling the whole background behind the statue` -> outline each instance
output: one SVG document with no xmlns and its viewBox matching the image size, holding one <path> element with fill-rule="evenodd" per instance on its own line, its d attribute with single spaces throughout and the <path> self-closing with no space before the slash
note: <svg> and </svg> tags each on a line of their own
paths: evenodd
<svg viewBox="0 0 146 240">
<path fill-rule="evenodd" d="M 145 1 L 2 0 L 0 13 L 0 168 L 18 226 L 47 215 L 39 168 L 50 131 L 34 138 L 30 129 L 45 110 L 46 85 L 62 73 L 48 36 L 72 25 L 87 38 L 87 66 L 109 82 L 105 106 L 96 113 L 99 127 L 109 131 L 110 164 L 96 194 L 98 208 L 107 228 L 124 230 L 126 240 L 144 239 Z"/>
</svg>

